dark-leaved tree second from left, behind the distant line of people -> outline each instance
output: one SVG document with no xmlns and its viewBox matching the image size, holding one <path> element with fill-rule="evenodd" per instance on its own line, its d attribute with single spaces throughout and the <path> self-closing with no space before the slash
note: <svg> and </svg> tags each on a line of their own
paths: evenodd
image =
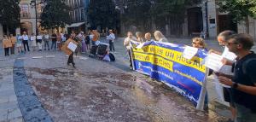
<svg viewBox="0 0 256 122">
<path fill-rule="evenodd" d="M 46 6 L 41 15 L 41 26 L 44 29 L 64 27 L 66 24 L 71 24 L 70 8 L 65 4 L 65 0 L 46 0 L 45 3 Z"/>
</svg>

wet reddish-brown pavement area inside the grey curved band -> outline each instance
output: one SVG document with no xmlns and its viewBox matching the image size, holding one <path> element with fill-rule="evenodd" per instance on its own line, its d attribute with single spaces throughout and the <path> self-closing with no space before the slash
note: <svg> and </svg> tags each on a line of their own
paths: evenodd
<svg viewBox="0 0 256 122">
<path fill-rule="evenodd" d="M 206 122 L 226 119 L 195 110 L 164 84 L 130 73 L 26 68 L 54 121 Z"/>
</svg>

